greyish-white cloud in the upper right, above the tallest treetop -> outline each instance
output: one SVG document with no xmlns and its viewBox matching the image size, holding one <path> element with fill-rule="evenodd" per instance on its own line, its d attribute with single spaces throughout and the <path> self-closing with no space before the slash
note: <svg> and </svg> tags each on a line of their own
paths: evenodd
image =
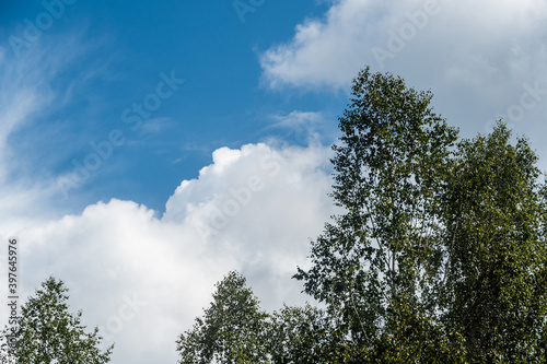
<svg viewBox="0 0 547 364">
<path fill-rule="evenodd" d="M 263 81 L 349 91 L 369 64 L 432 90 L 438 113 L 466 137 L 491 131 L 501 117 L 547 153 L 546 21 L 543 0 L 335 0 L 260 54 Z"/>
</svg>

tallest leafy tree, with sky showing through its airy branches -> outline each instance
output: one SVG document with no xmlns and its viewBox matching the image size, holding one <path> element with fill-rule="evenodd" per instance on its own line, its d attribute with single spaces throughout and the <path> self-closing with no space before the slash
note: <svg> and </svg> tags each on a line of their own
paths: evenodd
<svg viewBox="0 0 547 364">
<path fill-rule="evenodd" d="M 314 267 L 296 278 L 364 357 L 408 361 L 439 329 L 435 212 L 456 130 L 431 110 L 430 93 L 391 74 L 363 70 L 353 96 L 333 160 L 333 197 L 346 214 L 326 225 L 312 245 Z"/>
</svg>

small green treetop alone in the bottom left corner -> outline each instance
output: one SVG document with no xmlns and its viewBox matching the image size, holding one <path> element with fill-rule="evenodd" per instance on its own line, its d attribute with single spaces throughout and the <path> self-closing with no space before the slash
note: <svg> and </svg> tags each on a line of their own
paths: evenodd
<svg viewBox="0 0 547 364">
<path fill-rule="evenodd" d="M 49 278 L 36 291 L 35 297 L 21 307 L 21 317 L 15 331 L 15 359 L 19 364 L 108 363 L 114 345 L 104 353 L 98 345 L 102 338 L 98 328 L 84 331 L 81 325 L 82 313 L 72 315 L 68 312 L 68 291 L 62 281 Z M 2 331 L 1 339 L 11 333 Z M 5 344 L 2 345 L 5 349 Z M 4 359 L 9 363 L 9 359 Z"/>
</svg>

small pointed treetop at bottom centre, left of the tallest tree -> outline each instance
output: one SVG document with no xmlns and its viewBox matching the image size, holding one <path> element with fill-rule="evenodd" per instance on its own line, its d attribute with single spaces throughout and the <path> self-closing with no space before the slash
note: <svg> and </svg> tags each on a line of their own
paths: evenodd
<svg viewBox="0 0 547 364">
<path fill-rule="evenodd" d="M 230 272 L 217 283 L 203 318 L 177 340 L 181 363 L 268 363 L 266 318 L 245 278 Z"/>
</svg>

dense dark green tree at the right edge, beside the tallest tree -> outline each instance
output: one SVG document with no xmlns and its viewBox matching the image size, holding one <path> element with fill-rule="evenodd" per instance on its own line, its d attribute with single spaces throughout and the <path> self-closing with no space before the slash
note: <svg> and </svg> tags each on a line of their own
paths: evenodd
<svg viewBox="0 0 547 364">
<path fill-rule="evenodd" d="M 545 193 L 527 141 L 510 141 L 499 124 L 459 143 L 454 155 L 443 201 L 443 307 L 470 361 L 544 363 Z"/>
</svg>

